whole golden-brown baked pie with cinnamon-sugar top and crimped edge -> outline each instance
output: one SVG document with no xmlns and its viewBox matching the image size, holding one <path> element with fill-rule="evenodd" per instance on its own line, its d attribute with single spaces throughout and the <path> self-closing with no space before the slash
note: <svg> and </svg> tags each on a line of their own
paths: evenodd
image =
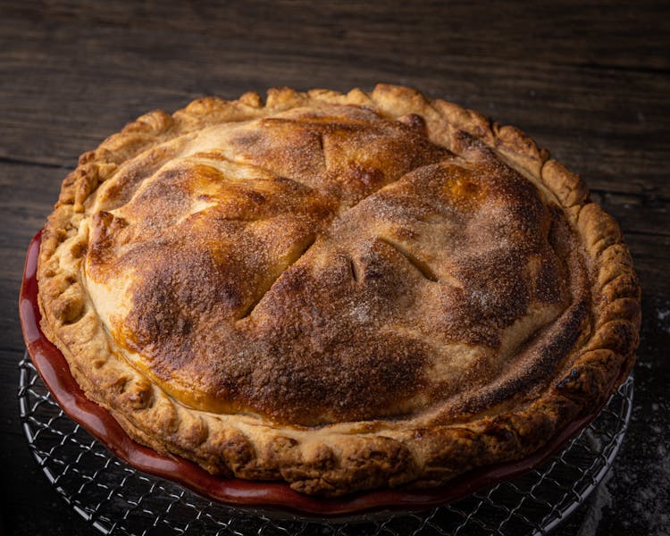
<svg viewBox="0 0 670 536">
<path fill-rule="evenodd" d="M 143 115 L 63 180 L 38 281 L 134 440 L 331 497 L 530 455 L 624 379 L 640 324 L 579 177 L 390 85 Z"/>
</svg>

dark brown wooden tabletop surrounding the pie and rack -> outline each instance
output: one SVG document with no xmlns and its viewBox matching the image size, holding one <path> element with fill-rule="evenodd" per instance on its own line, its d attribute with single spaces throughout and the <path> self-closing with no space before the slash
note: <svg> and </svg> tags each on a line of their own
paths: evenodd
<svg viewBox="0 0 670 536">
<path fill-rule="evenodd" d="M 0 2 L 4 531 L 94 533 L 29 455 L 16 398 L 24 252 L 77 156 L 139 114 L 174 111 L 197 96 L 389 81 L 527 131 L 582 174 L 621 222 L 644 290 L 634 414 L 606 486 L 558 532 L 670 532 L 663 4 Z"/>
</svg>

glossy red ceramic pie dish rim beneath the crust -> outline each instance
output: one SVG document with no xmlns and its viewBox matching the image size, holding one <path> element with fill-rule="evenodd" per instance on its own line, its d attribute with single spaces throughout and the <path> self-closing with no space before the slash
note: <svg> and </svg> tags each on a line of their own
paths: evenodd
<svg viewBox="0 0 670 536">
<path fill-rule="evenodd" d="M 21 282 L 20 315 L 23 338 L 32 363 L 63 411 L 101 441 L 115 456 L 144 472 L 196 491 L 230 507 L 261 508 L 304 516 L 351 516 L 380 510 L 421 510 L 447 504 L 475 490 L 507 481 L 540 465 L 565 442 L 590 423 L 598 411 L 583 415 L 566 426 L 540 450 L 522 460 L 490 465 L 465 473 L 448 485 L 431 490 L 374 490 L 343 498 L 317 498 L 291 490 L 283 482 L 250 482 L 224 479 L 180 457 L 163 456 L 131 440 L 113 416 L 90 401 L 70 373 L 63 354 L 39 328 L 38 252 L 41 231 L 32 239 Z M 616 383 L 610 386 L 610 389 Z"/>
</svg>

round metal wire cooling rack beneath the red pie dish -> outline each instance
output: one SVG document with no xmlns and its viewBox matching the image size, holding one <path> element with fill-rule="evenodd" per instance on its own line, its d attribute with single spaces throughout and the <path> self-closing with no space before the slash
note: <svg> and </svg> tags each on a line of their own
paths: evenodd
<svg viewBox="0 0 670 536">
<path fill-rule="evenodd" d="M 361 516 L 348 522 L 308 521 L 225 507 L 140 473 L 63 414 L 27 355 L 19 367 L 21 422 L 38 465 L 65 502 L 91 526 L 114 535 L 546 534 L 605 477 L 624 439 L 633 394 L 631 376 L 560 454 L 512 482 L 420 513 Z"/>
</svg>

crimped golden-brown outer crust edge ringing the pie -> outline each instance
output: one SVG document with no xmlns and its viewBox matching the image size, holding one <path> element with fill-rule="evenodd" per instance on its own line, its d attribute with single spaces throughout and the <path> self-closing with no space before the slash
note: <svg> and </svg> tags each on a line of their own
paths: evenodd
<svg viewBox="0 0 670 536">
<path fill-rule="evenodd" d="M 131 158 L 168 140 L 227 121 L 247 121 L 302 105 L 361 105 L 389 117 L 423 117 L 434 138 L 459 152 L 480 140 L 530 177 L 562 206 L 580 237 L 590 279 L 590 312 L 570 359 L 530 403 L 494 406 L 457 424 L 416 427 L 341 423 L 310 429 L 251 417 L 214 415 L 180 405 L 115 356 L 82 281 L 87 246 L 80 231 L 88 199 Z M 464 145 L 465 144 L 465 145 Z M 163 454 L 187 457 L 215 474 L 285 480 L 295 490 L 338 496 L 354 490 L 433 486 L 480 465 L 520 458 L 588 414 L 634 363 L 640 327 L 640 287 L 615 220 L 590 202 L 583 181 L 549 159 L 520 130 L 410 88 L 379 85 L 343 95 L 314 89 L 271 89 L 265 104 L 247 93 L 229 102 L 194 101 L 169 115 L 152 112 L 80 157 L 63 180 L 43 231 L 38 264 L 42 329 L 60 348 L 88 398 L 109 409 L 130 436 Z M 511 408 L 510 408 L 511 407 Z"/>
</svg>

